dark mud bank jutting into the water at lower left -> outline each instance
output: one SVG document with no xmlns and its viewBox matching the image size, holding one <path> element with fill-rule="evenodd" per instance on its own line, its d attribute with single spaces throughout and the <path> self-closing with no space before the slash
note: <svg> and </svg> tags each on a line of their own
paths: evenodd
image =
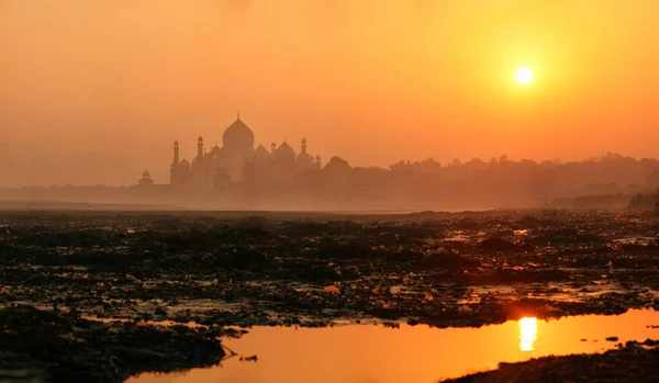
<svg viewBox="0 0 659 383">
<path fill-rule="evenodd" d="M 0 311 L 0 370 L 21 367 L 55 382 L 123 382 L 145 371 L 216 364 L 225 354 L 219 335 L 9 307 Z"/>
</svg>

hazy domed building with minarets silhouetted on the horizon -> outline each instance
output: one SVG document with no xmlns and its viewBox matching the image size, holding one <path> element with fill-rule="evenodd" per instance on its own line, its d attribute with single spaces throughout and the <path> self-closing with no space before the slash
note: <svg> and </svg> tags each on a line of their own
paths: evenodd
<svg viewBox="0 0 659 383">
<path fill-rule="evenodd" d="M 241 114 L 222 134 L 222 147 L 216 144 L 206 149 L 203 137 L 197 139 L 197 156 L 192 161 L 180 158 L 179 142 L 174 142 L 174 158 L 169 168 L 171 185 L 190 185 L 213 189 L 222 182 L 243 182 L 250 174 L 268 174 L 291 178 L 294 173 L 321 167 L 320 156 L 306 151 L 306 139 L 302 138 L 300 153 L 286 142 L 254 147 L 254 132 L 242 120 Z M 252 170 L 247 170 L 252 169 Z"/>
</svg>

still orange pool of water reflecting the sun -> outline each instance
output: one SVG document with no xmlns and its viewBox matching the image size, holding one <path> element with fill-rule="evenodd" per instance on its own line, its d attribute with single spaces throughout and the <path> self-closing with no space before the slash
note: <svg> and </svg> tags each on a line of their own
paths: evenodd
<svg viewBox="0 0 659 383">
<path fill-rule="evenodd" d="M 333 328 L 256 327 L 224 341 L 242 357 L 174 374 L 142 374 L 125 383 L 436 383 L 549 354 L 593 353 L 619 341 L 659 338 L 659 312 L 558 320 L 523 318 L 481 328 L 373 325 Z M 618 341 L 606 341 L 616 336 Z M 583 341 L 582 339 L 587 339 Z"/>
</svg>

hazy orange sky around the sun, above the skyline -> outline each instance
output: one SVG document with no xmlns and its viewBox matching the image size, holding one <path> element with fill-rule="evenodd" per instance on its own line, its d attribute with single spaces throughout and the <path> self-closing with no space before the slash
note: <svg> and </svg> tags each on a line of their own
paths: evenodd
<svg viewBox="0 0 659 383">
<path fill-rule="evenodd" d="M 0 185 L 168 179 L 243 120 L 323 160 L 659 154 L 659 2 L 0 0 Z M 534 81 L 520 86 L 520 66 Z"/>
</svg>

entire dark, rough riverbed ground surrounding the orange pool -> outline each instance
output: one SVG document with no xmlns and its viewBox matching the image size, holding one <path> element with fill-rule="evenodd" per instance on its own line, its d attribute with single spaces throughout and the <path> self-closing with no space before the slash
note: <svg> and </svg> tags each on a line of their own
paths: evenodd
<svg viewBox="0 0 659 383">
<path fill-rule="evenodd" d="M 659 222 L 645 213 L 7 212 L 0 370 L 121 382 L 139 371 L 217 362 L 227 326 L 375 318 L 465 327 L 659 309 L 657 234 Z M 20 339 L 51 351 L 16 346 L 26 343 Z M 463 381 L 541 381 L 533 376 L 556 370 L 551 363 L 568 367 L 570 376 L 557 382 L 597 373 L 619 381 L 595 367 L 619 372 L 625 361 L 640 373 L 658 369 L 645 363 L 656 358 L 654 346 L 630 345 Z"/>
</svg>

